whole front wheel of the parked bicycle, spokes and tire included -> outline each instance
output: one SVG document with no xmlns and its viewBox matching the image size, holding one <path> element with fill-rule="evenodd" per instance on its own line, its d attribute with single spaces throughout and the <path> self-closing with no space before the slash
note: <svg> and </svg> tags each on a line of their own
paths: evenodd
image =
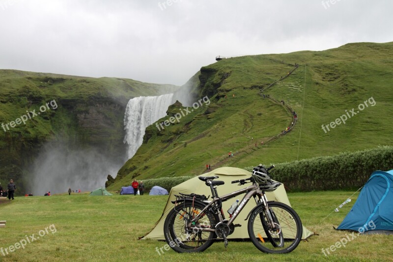
<svg viewBox="0 0 393 262">
<path fill-rule="evenodd" d="M 268 202 L 268 205 L 269 214 L 261 205 L 250 216 L 248 231 L 251 241 L 265 253 L 289 253 L 302 239 L 302 222 L 290 206 L 279 202 Z"/>
</svg>

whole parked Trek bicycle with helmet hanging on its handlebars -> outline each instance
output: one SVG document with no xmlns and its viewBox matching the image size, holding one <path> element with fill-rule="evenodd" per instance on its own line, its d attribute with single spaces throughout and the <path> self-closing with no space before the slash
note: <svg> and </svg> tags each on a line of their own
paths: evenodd
<svg viewBox="0 0 393 262">
<path fill-rule="evenodd" d="M 217 238 L 224 239 L 234 232 L 240 224 L 233 224 L 251 197 L 256 206 L 247 215 L 248 233 L 254 246 L 264 253 L 283 254 L 293 251 L 300 243 L 303 227 L 298 214 L 290 206 L 268 201 L 265 192 L 276 190 L 281 183 L 271 180 L 269 170 L 262 165 L 253 168 L 252 176 L 247 179 L 234 180 L 231 183 L 252 185 L 219 197 L 217 186 L 224 181 L 214 180 L 219 176 L 199 176 L 210 187 L 212 201 L 209 197 L 198 194 L 176 196 L 174 208 L 168 213 L 164 223 L 164 235 L 168 245 L 178 253 L 203 252 Z M 222 203 L 238 195 L 246 195 L 234 212 L 225 218 Z"/>
</svg>

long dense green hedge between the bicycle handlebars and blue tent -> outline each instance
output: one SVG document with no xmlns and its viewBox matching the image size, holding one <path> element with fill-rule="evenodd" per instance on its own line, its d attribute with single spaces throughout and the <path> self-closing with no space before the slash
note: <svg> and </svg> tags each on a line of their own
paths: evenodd
<svg viewBox="0 0 393 262">
<path fill-rule="evenodd" d="M 392 169 L 393 146 L 381 146 L 277 164 L 271 176 L 290 191 L 337 190 L 359 188 L 372 172 Z"/>
</svg>

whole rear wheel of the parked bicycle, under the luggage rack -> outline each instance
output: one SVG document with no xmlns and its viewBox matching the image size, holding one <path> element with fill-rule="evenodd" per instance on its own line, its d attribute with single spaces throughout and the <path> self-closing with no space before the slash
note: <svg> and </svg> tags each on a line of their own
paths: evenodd
<svg viewBox="0 0 393 262">
<path fill-rule="evenodd" d="M 201 232 L 196 229 L 186 229 L 186 224 L 193 214 L 199 213 L 205 205 L 185 202 L 176 205 L 169 213 L 164 223 L 164 236 L 168 245 L 178 253 L 203 252 L 217 238 L 214 232 Z M 213 228 L 216 225 L 215 214 L 205 210 L 195 227 Z"/>
</svg>

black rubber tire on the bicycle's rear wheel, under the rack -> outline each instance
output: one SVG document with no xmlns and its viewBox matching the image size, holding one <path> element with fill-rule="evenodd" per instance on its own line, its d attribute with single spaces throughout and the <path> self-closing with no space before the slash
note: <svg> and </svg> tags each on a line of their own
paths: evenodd
<svg viewBox="0 0 393 262">
<path fill-rule="evenodd" d="M 193 253 L 193 252 L 203 252 L 205 251 L 208 247 L 210 247 L 214 239 L 217 238 L 216 233 L 210 233 L 208 239 L 199 247 L 194 248 L 190 247 L 187 245 L 182 244 L 179 241 L 175 241 L 178 238 L 175 236 L 173 224 L 174 224 L 174 219 L 176 218 L 176 215 L 179 214 L 179 208 L 184 208 L 184 207 L 192 207 L 192 202 L 186 202 L 183 204 L 179 204 L 175 206 L 167 215 L 167 218 L 165 219 L 164 223 L 164 236 L 165 240 L 167 241 L 168 245 L 170 248 L 172 248 L 174 251 L 178 253 Z M 205 205 L 199 204 L 199 203 L 194 203 L 194 207 L 197 207 L 199 209 L 203 209 Z M 210 210 L 205 210 L 205 214 L 209 218 L 209 222 L 212 226 L 216 224 L 216 218 L 215 214 L 211 212 Z"/>
</svg>

